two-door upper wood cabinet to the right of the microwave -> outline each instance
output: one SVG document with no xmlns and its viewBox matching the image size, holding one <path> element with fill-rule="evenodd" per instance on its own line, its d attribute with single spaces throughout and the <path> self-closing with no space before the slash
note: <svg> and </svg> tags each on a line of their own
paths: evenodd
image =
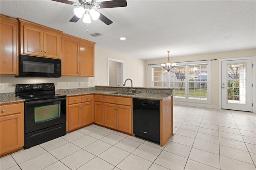
<svg viewBox="0 0 256 170">
<path fill-rule="evenodd" d="M 94 77 L 94 42 L 62 34 L 62 76 Z"/>
</svg>

